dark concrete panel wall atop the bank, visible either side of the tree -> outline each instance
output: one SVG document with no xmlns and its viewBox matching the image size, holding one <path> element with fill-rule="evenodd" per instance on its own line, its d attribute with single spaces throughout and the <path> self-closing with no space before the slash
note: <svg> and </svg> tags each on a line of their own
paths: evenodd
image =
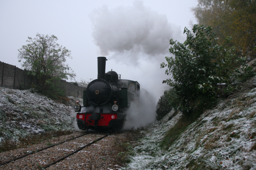
<svg viewBox="0 0 256 170">
<path fill-rule="evenodd" d="M 0 62 L 0 85 L 10 89 L 28 89 L 37 84 L 35 76 L 28 75 L 28 71 L 19 69 L 10 64 Z M 85 87 L 66 82 L 64 80 L 55 82 L 57 87 L 64 89 L 66 96 L 83 97 Z"/>
</svg>

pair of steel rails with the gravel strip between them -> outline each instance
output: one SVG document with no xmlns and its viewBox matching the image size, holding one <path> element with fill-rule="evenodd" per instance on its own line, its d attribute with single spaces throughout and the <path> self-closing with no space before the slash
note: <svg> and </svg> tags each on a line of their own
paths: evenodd
<svg viewBox="0 0 256 170">
<path fill-rule="evenodd" d="M 0 169 L 20 169 L 22 167 L 22 169 L 32 170 L 49 168 L 50 166 L 52 167 L 52 165 L 63 161 L 65 158 L 69 159 L 68 157 L 74 155 L 75 153 L 78 155 L 81 152 L 86 153 L 86 151 L 83 151 L 84 148 L 93 144 L 97 146 L 95 143 L 107 136 L 109 136 L 109 134 L 103 136 L 89 132 L 78 137 L 74 137 L 72 139 L 30 152 L 26 155 L 19 156 L 18 158 L 5 161 L 4 163 L 0 164 Z M 55 167 L 53 169 L 55 169 Z"/>
</svg>

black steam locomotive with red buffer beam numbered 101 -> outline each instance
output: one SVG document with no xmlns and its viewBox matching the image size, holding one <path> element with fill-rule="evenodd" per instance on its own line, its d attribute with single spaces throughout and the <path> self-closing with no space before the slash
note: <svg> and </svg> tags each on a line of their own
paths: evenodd
<svg viewBox="0 0 256 170">
<path fill-rule="evenodd" d="M 74 110 L 79 129 L 122 129 L 131 105 L 138 105 L 140 84 L 137 81 L 118 79 L 114 71 L 105 73 L 106 57 L 98 57 L 98 79 L 83 91 L 83 106 L 76 101 Z"/>
</svg>

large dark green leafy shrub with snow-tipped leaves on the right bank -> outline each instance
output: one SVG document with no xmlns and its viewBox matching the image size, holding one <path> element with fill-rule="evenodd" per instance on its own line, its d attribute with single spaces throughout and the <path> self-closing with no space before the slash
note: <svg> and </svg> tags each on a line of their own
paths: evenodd
<svg viewBox="0 0 256 170">
<path fill-rule="evenodd" d="M 161 68 L 168 67 L 166 74 L 172 75 L 171 79 L 163 81 L 176 93 L 172 107 L 184 115 L 197 117 L 214 105 L 220 92 L 217 83 L 232 84 L 238 73 L 249 77 L 252 72 L 244 58 L 234 54 L 235 47 L 226 48 L 217 42 L 210 26 L 195 24 L 192 30 L 184 29 L 187 39 L 183 44 L 170 40 L 169 50 L 175 58 L 166 57 L 167 64 L 162 63 Z M 240 65 L 242 69 L 235 69 Z"/>
</svg>

